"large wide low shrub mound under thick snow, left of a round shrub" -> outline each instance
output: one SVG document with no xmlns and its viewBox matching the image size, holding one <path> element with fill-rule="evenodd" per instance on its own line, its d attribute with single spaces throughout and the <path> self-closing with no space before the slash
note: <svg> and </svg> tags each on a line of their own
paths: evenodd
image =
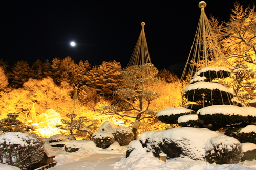
<svg viewBox="0 0 256 170">
<path fill-rule="evenodd" d="M 204 147 L 207 141 L 218 135 L 220 133 L 206 128 L 182 127 L 162 131 L 147 131 L 142 133 L 137 140 L 147 152 L 152 152 L 155 157 L 165 153 L 168 159 L 181 157 L 204 160 Z M 134 142 L 130 143 L 134 144 Z M 131 144 L 128 146 L 126 156 L 138 152 L 136 151 L 138 147 L 136 145 L 131 147 Z"/>
</svg>

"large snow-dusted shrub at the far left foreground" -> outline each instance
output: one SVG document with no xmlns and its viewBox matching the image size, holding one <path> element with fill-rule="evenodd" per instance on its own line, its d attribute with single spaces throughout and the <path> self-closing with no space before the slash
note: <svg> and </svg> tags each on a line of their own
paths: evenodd
<svg viewBox="0 0 256 170">
<path fill-rule="evenodd" d="M 44 156 L 44 142 L 33 133 L 8 132 L 0 136 L 0 162 L 27 169 Z"/>
</svg>

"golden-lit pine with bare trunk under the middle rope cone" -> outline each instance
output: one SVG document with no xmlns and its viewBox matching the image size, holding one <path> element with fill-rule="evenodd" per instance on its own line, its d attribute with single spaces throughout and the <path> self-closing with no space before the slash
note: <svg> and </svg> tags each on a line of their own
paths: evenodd
<svg viewBox="0 0 256 170">
<path fill-rule="evenodd" d="M 153 64 L 133 65 L 122 72 L 123 84 L 115 91 L 123 101 L 119 106 L 102 106 L 99 111 L 107 115 L 127 116 L 135 119 L 133 133 L 136 139 L 139 122 L 145 118 L 156 117 L 156 112 L 149 110 L 151 101 L 160 94 L 148 88 L 158 83 L 158 70 Z"/>
</svg>

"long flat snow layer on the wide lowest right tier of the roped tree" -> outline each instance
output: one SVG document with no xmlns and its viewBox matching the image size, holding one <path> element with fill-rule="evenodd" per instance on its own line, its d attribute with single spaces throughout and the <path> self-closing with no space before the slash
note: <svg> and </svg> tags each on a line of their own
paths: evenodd
<svg viewBox="0 0 256 170">
<path fill-rule="evenodd" d="M 217 114 L 221 113 L 224 115 L 241 115 L 248 116 L 254 115 L 255 113 L 252 110 L 256 111 L 256 108 L 253 107 L 239 107 L 234 105 L 212 105 L 207 106 L 197 111 L 197 114 L 206 115 L 206 114 Z"/>
</svg>

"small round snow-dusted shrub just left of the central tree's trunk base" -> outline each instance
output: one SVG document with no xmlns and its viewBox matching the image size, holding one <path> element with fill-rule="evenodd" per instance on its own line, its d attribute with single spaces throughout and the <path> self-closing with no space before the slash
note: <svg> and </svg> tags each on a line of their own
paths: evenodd
<svg viewBox="0 0 256 170">
<path fill-rule="evenodd" d="M 134 134 L 132 130 L 125 126 L 119 126 L 112 132 L 117 141 L 121 146 L 128 145 L 132 140 L 134 140 Z"/>
</svg>

